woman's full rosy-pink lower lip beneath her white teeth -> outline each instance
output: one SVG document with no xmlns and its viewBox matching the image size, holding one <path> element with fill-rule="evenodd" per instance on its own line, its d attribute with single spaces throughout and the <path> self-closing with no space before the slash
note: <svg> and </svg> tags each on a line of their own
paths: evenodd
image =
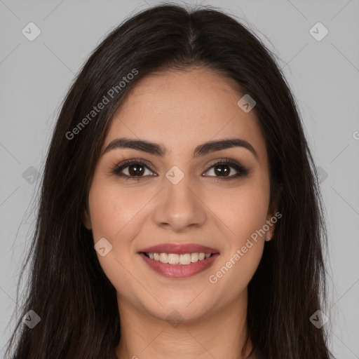
<svg viewBox="0 0 359 359">
<path fill-rule="evenodd" d="M 162 263 L 159 261 L 155 261 L 154 259 L 150 259 L 146 257 L 144 253 L 140 253 L 140 256 L 144 259 L 151 269 L 155 272 L 161 274 L 167 278 L 189 278 L 191 276 L 195 276 L 201 271 L 205 271 L 208 269 L 213 262 L 215 262 L 216 258 L 219 256 L 219 253 L 215 253 L 211 257 L 207 259 L 203 259 L 202 261 L 198 261 L 191 264 L 168 264 Z"/>
</svg>

